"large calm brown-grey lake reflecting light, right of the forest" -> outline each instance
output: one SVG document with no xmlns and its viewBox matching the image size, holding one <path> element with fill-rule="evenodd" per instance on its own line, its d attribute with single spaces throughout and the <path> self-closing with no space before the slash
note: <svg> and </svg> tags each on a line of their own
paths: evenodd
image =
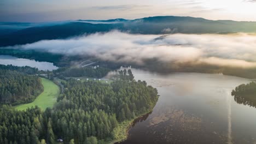
<svg viewBox="0 0 256 144">
<path fill-rule="evenodd" d="M 222 74 L 161 75 L 132 69 L 156 87 L 152 113 L 139 118 L 126 143 L 256 143 L 256 109 L 237 104 L 231 91 L 250 80 Z"/>
</svg>

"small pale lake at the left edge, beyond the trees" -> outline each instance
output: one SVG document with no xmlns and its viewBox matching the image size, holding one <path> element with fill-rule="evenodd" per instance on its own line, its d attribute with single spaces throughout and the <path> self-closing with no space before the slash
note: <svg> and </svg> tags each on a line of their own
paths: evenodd
<svg viewBox="0 0 256 144">
<path fill-rule="evenodd" d="M 53 63 L 38 62 L 31 59 L 17 58 L 17 57 L 7 56 L 7 55 L 0 55 L 0 64 L 4 64 L 4 65 L 12 64 L 19 67 L 30 66 L 30 67 L 36 67 L 39 70 L 50 70 L 50 71 L 58 68 Z"/>
</svg>

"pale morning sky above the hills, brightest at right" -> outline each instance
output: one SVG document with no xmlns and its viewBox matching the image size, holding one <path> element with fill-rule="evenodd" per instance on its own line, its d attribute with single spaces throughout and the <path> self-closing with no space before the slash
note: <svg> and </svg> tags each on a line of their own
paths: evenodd
<svg viewBox="0 0 256 144">
<path fill-rule="evenodd" d="M 256 21 L 256 0 L 1 0 L 0 21 L 137 19 L 193 16 L 210 20 Z"/>
</svg>

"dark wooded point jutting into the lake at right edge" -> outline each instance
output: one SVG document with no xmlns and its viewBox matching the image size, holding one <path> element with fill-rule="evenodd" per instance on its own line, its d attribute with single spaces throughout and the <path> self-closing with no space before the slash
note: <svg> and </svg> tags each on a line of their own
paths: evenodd
<svg viewBox="0 0 256 144">
<path fill-rule="evenodd" d="M 256 83 L 242 84 L 232 90 L 236 103 L 256 107 Z"/>
</svg>

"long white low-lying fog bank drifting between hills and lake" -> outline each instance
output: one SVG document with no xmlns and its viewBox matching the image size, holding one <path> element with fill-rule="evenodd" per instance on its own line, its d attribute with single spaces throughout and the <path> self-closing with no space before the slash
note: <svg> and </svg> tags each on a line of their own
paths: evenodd
<svg viewBox="0 0 256 144">
<path fill-rule="evenodd" d="M 142 35 L 113 31 L 66 40 L 42 40 L 9 48 L 90 55 L 103 61 L 139 65 L 148 59 L 157 59 L 170 64 L 256 68 L 255 47 L 256 35 L 245 33 Z"/>
</svg>

